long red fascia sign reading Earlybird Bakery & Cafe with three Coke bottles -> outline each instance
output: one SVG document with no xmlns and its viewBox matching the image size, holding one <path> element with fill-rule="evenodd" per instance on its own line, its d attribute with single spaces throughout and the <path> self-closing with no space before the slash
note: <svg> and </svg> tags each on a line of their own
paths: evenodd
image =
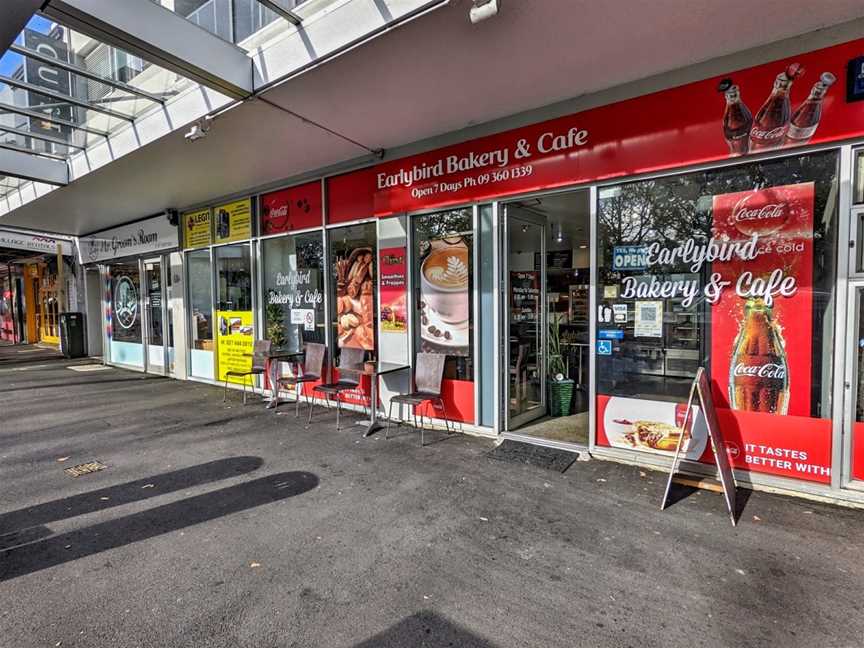
<svg viewBox="0 0 864 648">
<path fill-rule="evenodd" d="M 386 216 L 864 134 L 836 80 L 864 40 L 328 180 L 328 219 Z"/>
</svg>

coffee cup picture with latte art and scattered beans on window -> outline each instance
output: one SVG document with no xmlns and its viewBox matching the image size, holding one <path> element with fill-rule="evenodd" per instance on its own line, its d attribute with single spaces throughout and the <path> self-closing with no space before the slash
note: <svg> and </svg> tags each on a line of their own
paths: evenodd
<svg viewBox="0 0 864 648">
<path fill-rule="evenodd" d="M 468 244 L 434 239 L 420 262 L 422 350 L 469 356 L 471 343 Z"/>
</svg>

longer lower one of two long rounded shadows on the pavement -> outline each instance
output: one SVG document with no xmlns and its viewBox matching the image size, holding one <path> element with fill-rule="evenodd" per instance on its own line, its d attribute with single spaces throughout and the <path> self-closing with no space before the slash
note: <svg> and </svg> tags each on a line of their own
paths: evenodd
<svg viewBox="0 0 864 648">
<path fill-rule="evenodd" d="M 305 471 L 278 473 L 0 552 L 0 581 L 301 495 L 318 485 Z"/>
</svg>

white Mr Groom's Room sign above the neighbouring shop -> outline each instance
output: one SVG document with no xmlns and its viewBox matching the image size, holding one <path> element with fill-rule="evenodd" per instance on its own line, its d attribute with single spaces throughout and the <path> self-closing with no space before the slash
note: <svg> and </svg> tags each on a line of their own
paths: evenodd
<svg viewBox="0 0 864 648">
<path fill-rule="evenodd" d="M 159 215 L 82 236 L 78 250 L 81 263 L 97 263 L 172 250 L 178 245 L 177 226 L 169 223 L 164 215 Z"/>
</svg>

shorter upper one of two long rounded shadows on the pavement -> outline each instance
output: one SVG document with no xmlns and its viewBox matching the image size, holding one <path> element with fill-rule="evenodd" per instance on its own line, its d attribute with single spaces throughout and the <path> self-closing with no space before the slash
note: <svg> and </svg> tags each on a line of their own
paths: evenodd
<svg viewBox="0 0 864 648">
<path fill-rule="evenodd" d="M 0 533 L 4 535 L 0 536 L 0 547 L 2 547 L 2 539 L 11 531 L 65 520 L 114 506 L 122 506 L 130 502 L 140 502 L 150 497 L 184 488 L 229 479 L 258 470 L 263 465 L 264 460 L 261 457 L 218 459 L 125 484 L 117 484 L 80 495 L 64 497 L 60 500 L 37 504 L 26 509 L 3 513 L 0 514 Z"/>
</svg>

